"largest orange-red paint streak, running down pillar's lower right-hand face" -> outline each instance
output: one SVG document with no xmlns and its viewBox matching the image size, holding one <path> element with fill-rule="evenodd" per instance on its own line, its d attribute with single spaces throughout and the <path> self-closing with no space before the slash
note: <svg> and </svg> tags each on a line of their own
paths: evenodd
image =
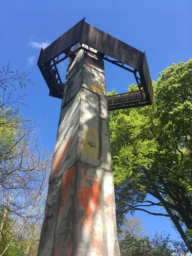
<svg viewBox="0 0 192 256">
<path fill-rule="evenodd" d="M 82 180 L 79 188 L 80 209 L 85 211 L 78 224 L 79 239 L 88 243 L 88 252 L 94 252 L 94 255 L 101 255 L 102 248 L 102 227 L 101 227 L 101 209 L 100 209 L 100 185 L 99 179 L 94 179 L 92 175 L 84 176 L 81 169 Z M 93 186 L 90 186 L 86 179 L 92 180 Z M 78 255 L 78 252 L 77 254 Z"/>
</svg>

